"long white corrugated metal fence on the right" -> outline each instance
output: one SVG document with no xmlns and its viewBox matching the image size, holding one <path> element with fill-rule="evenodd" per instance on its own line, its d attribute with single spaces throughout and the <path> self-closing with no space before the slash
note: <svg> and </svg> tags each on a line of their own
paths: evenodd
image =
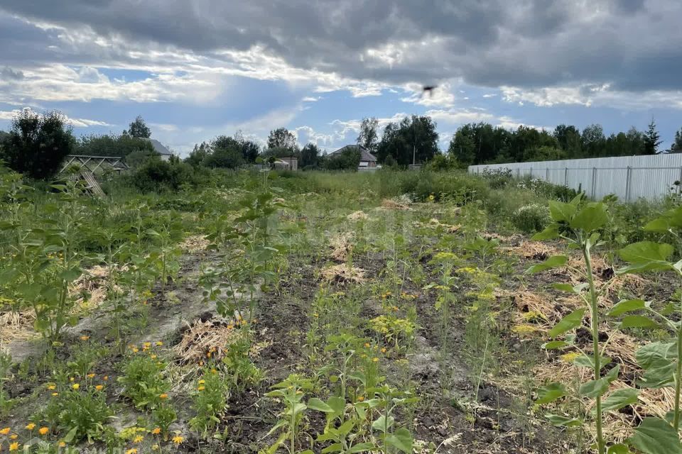
<svg viewBox="0 0 682 454">
<path fill-rule="evenodd" d="M 682 182 L 682 153 L 470 165 L 469 173 L 486 169 L 509 169 L 517 177 L 529 175 L 583 189 L 595 199 L 616 194 L 626 201 L 653 200 L 678 190 L 674 183 Z"/>
</svg>

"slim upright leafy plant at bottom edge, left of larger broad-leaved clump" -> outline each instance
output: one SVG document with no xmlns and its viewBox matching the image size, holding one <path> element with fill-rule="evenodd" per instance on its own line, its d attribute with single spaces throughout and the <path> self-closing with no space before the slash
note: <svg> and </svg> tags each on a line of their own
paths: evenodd
<svg viewBox="0 0 682 454">
<path fill-rule="evenodd" d="M 284 404 L 284 409 L 279 415 L 279 421 L 268 432 L 268 435 L 271 435 L 279 431 L 280 436 L 266 450 L 266 453 L 274 454 L 280 446 L 285 447 L 289 454 L 298 453 L 296 450 L 298 431 L 305 410 L 308 409 L 308 406 L 303 403 L 303 399 L 305 392 L 312 388 L 313 384 L 310 380 L 298 374 L 291 374 L 283 382 L 275 384 L 273 390 L 266 394 L 267 397 L 278 399 Z M 312 454 L 312 451 L 305 450 L 303 453 Z"/>
</svg>

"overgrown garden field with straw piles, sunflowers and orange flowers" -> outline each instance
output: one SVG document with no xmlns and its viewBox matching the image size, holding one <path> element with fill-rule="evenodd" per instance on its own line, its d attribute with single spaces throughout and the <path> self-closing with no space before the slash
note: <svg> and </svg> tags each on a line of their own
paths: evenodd
<svg viewBox="0 0 682 454">
<path fill-rule="evenodd" d="M 0 178 L 0 452 L 682 452 L 675 199 Z"/>
</svg>

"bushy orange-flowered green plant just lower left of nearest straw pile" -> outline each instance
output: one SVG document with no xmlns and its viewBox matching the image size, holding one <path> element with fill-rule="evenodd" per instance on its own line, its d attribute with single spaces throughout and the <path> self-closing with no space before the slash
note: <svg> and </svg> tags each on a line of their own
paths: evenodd
<svg viewBox="0 0 682 454">
<path fill-rule="evenodd" d="M 164 400 L 171 384 L 163 377 L 166 364 L 152 355 L 136 354 L 128 358 L 118 378 L 123 384 L 123 394 L 138 408 L 154 409 Z"/>
</svg>

